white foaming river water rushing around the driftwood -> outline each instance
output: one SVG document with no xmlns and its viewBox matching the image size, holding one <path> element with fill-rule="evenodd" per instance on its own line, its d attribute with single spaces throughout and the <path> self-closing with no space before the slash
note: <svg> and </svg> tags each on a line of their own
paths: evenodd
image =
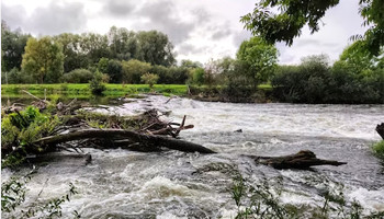
<svg viewBox="0 0 384 219">
<path fill-rule="evenodd" d="M 176 97 L 148 96 L 100 110 L 132 115 L 156 107 L 171 112 L 163 119 L 194 128 L 181 138 L 201 143 L 217 154 L 179 151 L 140 153 L 94 150 L 92 162 L 64 159 L 39 168 L 27 184 L 29 199 L 61 196 L 71 182 L 78 188 L 64 216 L 77 210 L 82 218 L 234 218 L 231 176 L 221 171 L 199 172 L 216 163 L 238 169 L 255 182 L 282 176 L 282 201 L 321 205 L 319 195 L 334 182 L 345 184 L 347 199 L 359 200 L 368 210 L 384 210 L 384 168 L 370 152 L 380 140 L 375 126 L 384 122 L 384 105 L 303 105 L 206 103 Z M 241 129 L 242 132 L 235 132 Z M 274 170 L 256 165 L 241 154 L 283 155 L 308 149 L 317 157 L 348 162 L 315 171 Z M 2 178 L 12 175 L 2 171 Z M 20 174 L 20 173 L 19 173 Z"/>
</svg>

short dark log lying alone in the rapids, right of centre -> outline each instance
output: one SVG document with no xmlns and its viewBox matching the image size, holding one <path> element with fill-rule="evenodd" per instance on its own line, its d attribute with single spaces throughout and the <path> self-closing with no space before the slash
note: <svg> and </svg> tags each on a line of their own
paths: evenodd
<svg viewBox="0 0 384 219">
<path fill-rule="evenodd" d="M 342 165 L 346 162 L 321 160 L 316 158 L 316 154 L 309 150 L 302 150 L 298 153 L 282 157 L 253 157 L 248 155 L 256 163 L 270 165 L 274 169 L 309 169 L 314 165 Z"/>
</svg>

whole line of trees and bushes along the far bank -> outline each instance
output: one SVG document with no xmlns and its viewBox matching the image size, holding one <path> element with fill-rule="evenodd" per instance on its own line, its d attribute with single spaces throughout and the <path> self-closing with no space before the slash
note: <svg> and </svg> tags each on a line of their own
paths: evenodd
<svg viewBox="0 0 384 219">
<path fill-rule="evenodd" d="M 111 27 L 94 33 L 34 38 L 2 22 L 2 83 L 191 84 L 205 96 L 235 102 L 384 103 L 384 50 L 373 56 L 363 42 L 348 46 L 330 64 L 326 55 L 279 66 L 278 49 L 260 37 L 242 42 L 236 58 L 177 65 L 168 36 Z M 268 83 L 272 90 L 260 90 Z M 204 87 L 200 87 L 204 85 Z"/>
</svg>

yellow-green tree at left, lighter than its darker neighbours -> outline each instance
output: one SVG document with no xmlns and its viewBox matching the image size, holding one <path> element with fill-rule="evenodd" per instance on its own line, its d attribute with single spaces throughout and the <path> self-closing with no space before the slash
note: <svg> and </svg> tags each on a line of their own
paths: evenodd
<svg viewBox="0 0 384 219">
<path fill-rule="evenodd" d="M 39 83 L 57 83 L 64 71 L 63 46 L 48 36 L 31 37 L 26 42 L 22 69 Z"/>
</svg>

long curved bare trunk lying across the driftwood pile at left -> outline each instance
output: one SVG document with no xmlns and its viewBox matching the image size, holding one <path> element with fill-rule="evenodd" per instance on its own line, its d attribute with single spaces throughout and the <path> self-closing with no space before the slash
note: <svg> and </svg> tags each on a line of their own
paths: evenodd
<svg viewBox="0 0 384 219">
<path fill-rule="evenodd" d="M 172 150 L 180 150 L 185 152 L 215 153 L 215 151 L 197 143 L 163 136 L 144 135 L 136 131 L 123 129 L 84 129 L 64 135 L 45 137 L 35 141 L 34 143 L 52 147 L 58 143 L 81 139 L 128 139 L 132 142 L 137 142 L 143 147 L 165 147 Z"/>
</svg>

